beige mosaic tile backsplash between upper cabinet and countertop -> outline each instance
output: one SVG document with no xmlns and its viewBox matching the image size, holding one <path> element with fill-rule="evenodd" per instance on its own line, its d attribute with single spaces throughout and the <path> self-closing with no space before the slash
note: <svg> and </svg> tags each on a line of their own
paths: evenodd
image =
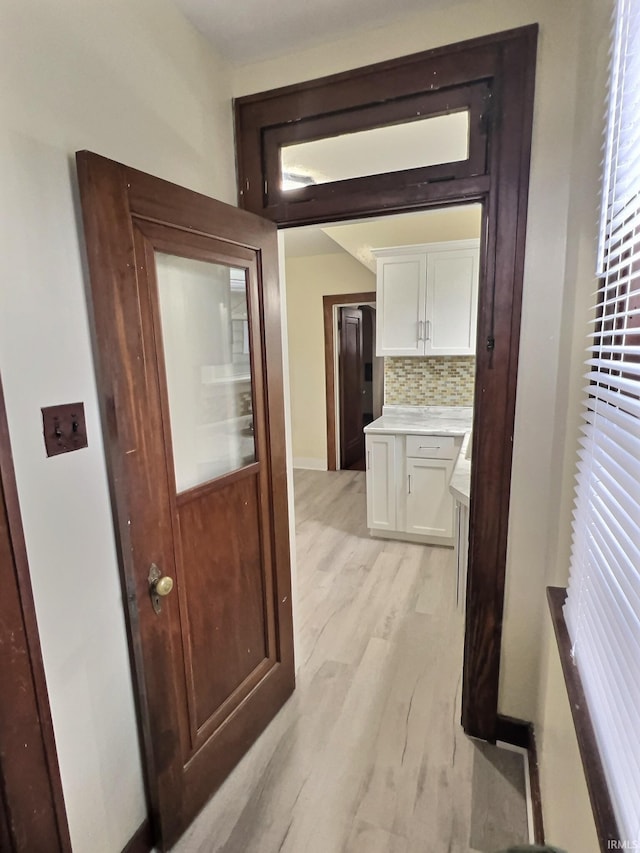
<svg viewBox="0 0 640 853">
<path fill-rule="evenodd" d="M 385 358 L 388 406 L 473 406 L 473 356 Z"/>
</svg>

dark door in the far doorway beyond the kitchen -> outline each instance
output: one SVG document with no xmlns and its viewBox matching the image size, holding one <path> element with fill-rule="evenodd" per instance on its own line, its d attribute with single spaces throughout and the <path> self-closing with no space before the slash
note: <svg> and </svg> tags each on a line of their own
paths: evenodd
<svg viewBox="0 0 640 853">
<path fill-rule="evenodd" d="M 340 374 L 340 467 L 351 468 L 364 459 L 362 396 L 362 311 L 341 308 L 338 322 Z"/>
</svg>

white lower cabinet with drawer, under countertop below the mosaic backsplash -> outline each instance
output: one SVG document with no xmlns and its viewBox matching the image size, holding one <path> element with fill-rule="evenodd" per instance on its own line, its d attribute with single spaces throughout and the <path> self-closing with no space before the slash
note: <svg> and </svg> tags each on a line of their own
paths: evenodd
<svg viewBox="0 0 640 853">
<path fill-rule="evenodd" d="M 461 439 L 368 433 L 367 526 L 378 536 L 454 544 L 449 481 Z"/>
</svg>

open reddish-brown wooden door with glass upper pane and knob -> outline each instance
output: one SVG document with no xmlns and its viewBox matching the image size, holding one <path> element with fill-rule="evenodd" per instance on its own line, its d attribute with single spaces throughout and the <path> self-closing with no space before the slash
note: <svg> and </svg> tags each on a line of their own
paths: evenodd
<svg viewBox="0 0 640 853">
<path fill-rule="evenodd" d="M 78 171 L 166 848 L 294 688 L 276 232 L 94 154 Z"/>
</svg>

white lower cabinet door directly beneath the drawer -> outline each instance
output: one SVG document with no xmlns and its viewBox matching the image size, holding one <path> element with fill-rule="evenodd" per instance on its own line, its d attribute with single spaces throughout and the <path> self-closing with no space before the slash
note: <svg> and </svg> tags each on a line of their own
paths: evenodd
<svg viewBox="0 0 640 853">
<path fill-rule="evenodd" d="M 447 459 L 407 459 L 407 533 L 453 536 L 453 497 L 449 492 L 452 462 Z"/>
</svg>

